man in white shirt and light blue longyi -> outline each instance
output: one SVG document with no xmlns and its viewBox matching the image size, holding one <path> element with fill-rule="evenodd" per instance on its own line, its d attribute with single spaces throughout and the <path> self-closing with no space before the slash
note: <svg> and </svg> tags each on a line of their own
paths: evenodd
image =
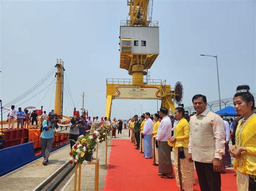
<svg viewBox="0 0 256 191">
<path fill-rule="evenodd" d="M 153 132 L 153 122 L 150 118 L 150 113 L 146 112 L 145 113 L 145 125 L 143 128 L 143 136 L 144 136 L 144 156 L 146 159 L 151 159 L 153 158 L 153 148 L 151 144 L 151 134 Z"/>
</svg>

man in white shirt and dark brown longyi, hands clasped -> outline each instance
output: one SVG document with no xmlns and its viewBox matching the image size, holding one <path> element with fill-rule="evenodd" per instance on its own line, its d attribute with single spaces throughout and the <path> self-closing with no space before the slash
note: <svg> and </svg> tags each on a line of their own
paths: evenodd
<svg viewBox="0 0 256 191">
<path fill-rule="evenodd" d="M 167 108 L 160 108 L 160 117 L 163 119 L 160 122 L 156 137 L 158 141 L 158 175 L 161 175 L 161 178 L 172 179 L 171 147 L 167 143 L 172 135 L 172 122 L 167 114 Z"/>
</svg>

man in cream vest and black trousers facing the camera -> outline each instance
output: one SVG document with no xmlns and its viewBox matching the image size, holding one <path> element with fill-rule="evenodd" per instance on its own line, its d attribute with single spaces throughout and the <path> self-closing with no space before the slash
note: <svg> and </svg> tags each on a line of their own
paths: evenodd
<svg viewBox="0 0 256 191">
<path fill-rule="evenodd" d="M 197 114 L 190 119 L 188 160 L 194 161 L 202 191 L 220 191 L 221 159 L 225 154 L 224 122 L 206 110 L 206 96 L 194 95 L 192 102 Z"/>
</svg>

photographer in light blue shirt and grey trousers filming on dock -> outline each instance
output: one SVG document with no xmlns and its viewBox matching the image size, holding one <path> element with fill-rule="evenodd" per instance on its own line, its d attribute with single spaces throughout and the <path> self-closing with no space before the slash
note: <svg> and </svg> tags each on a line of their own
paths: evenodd
<svg viewBox="0 0 256 191">
<path fill-rule="evenodd" d="M 51 152 L 53 142 L 53 129 L 58 129 L 57 118 L 55 118 L 54 112 L 49 112 L 49 120 L 44 119 L 41 127 L 41 148 L 43 153 L 43 165 L 46 166 L 49 162 L 49 156 Z"/>
</svg>

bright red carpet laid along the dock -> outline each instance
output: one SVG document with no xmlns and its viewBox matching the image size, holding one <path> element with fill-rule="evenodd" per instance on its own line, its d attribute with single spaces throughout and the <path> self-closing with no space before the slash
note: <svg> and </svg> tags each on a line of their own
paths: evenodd
<svg viewBox="0 0 256 191">
<path fill-rule="evenodd" d="M 158 167 L 152 163 L 152 159 L 145 159 L 143 154 L 134 149 L 130 140 L 113 140 L 104 190 L 178 191 L 175 179 L 160 178 Z M 235 172 L 226 172 L 221 175 L 221 190 L 237 190 Z M 200 190 L 198 183 L 194 190 Z"/>
</svg>

